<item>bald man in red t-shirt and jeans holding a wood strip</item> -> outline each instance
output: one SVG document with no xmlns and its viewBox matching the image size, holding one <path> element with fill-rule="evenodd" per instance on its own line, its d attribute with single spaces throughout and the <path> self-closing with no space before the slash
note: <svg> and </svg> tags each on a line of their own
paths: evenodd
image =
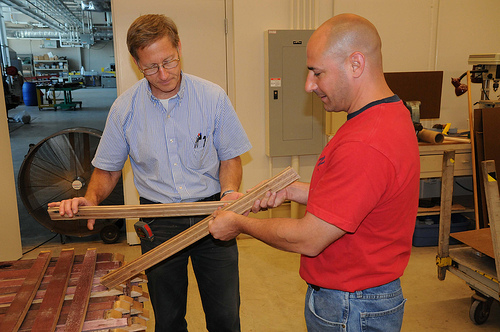
<svg viewBox="0 0 500 332">
<path fill-rule="evenodd" d="M 302 254 L 309 331 L 399 331 L 418 208 L 419 152 L 410 113 L 385 82 L 381 41 L 366 19 L 342 14 L 307 45 L 306 91 L 347 121 L 321 153 L 311 183 L 268 192 L 252 211 L 285 200 L 307 204 L 301 219 L 217 211 L 209 229 L 239 233 Z M 337 329 L 335 329 L 337 328 Z"/>
</svg>

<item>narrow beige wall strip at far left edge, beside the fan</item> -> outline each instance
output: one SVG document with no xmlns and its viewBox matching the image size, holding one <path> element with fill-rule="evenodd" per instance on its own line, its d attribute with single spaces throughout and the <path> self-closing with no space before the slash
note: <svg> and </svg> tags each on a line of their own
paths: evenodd
<svg viewBox="0 0 500 332">
<path fill-rule="evenodd" d="M 3 96 L 3 84 L 0 87 Z M 14 182 L 14 167 L 10 149 L 9 124 L 5 99 L 0 100 L 0 262 L 15 260 L 22 256 L 21 231 L 17 213 L 16 186 Z"/>
</svg>

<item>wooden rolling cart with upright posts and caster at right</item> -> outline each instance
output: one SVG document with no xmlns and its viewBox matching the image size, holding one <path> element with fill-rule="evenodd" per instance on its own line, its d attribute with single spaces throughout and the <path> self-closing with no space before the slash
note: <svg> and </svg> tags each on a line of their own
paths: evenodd
<svg viewBox="0 0 500 332">
<path fill-rule="evenodd" d="M 464 280 L 474 290 L 469 317 L 476 325 L 489 317 L 493 301 L 500 301 L 500 198 L 494 161 L 483 161 L 485 196 L 490 228 L 453 233 L 452 237 L 466 244 L 449 248 L 451 202 L 453 196 L 454 151 L 445 151 L 441 186 L 441 217 L 436 264 L 439 280 L 446 271 Z M 495 264 L 497 262 L 497 264 Z"/>
</svg>

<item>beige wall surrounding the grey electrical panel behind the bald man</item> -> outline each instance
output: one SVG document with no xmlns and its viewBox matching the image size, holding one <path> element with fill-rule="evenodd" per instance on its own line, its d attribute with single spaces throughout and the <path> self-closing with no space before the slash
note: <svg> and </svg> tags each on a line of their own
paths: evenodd
<svg viewBox="0 0 500 332">
<path fill-rule="evenodd" d="M 113 10 L 120 6 L 113 2 Z M 158 3 L 163 3 L 158 1 Z M 466 96 L 455 97 L 449 80 L 470 69 L 469 54 L 500 52 L 493 24 L 500 12 L 496 0 L 234 0 L 233 53 L 235 94 L 233 103 L 253 149 L 244 156 L 242 189 L 251 188 L 291 165 L 300 168 L 304 180 L 312 173 L 317 156 L 268 158 L 265 155 L 264 31 L 268 29 L 316 28 L 333 13 L 365 16 L 379 29 L 383 40 L 386 71 L 443 70 L 441 119 L 468 128 Z M 131 17 L 136 13 L 129 13 Z M 189 17 L 191 11 L 186 11 Z M 129 18 L 129 19 L 130 19 Z M 459 39 L 459 42 L 455 42 Z M 117 62 L 128 52 L 116 47 Z M 231 53 L 231 52 L 229 52 Z"/>
</svg>

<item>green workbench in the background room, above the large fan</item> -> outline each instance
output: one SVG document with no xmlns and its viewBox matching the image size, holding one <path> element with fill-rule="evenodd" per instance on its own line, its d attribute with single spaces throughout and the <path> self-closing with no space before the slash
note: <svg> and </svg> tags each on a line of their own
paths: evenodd
<svg viewBox="0 0 500 332">
<path fill-rule="evenodd" d="M 57 111 L 58 108 L 65 110 L 76 110 L 79 106 L 82 108 L 82 102 L 73 100 L 72 91 L 80 89 L 79 83 L 57 83 L 57 84 L 40 84 L 36 86 L 36 97 L 38 101 L 38 109 L 41 111 L 46 108 L 53 108 Z M 42 90 L 44 92 L 42 92 Z M 62 92 L 64 98 L 57 98 L 57 92 Z M 43 95 L 47 103 L 43 102 Z M 51 97 L 49 97 L 51 96 Z M 60 102 L 58 102 L 60 101 Z"/>
</svg>

